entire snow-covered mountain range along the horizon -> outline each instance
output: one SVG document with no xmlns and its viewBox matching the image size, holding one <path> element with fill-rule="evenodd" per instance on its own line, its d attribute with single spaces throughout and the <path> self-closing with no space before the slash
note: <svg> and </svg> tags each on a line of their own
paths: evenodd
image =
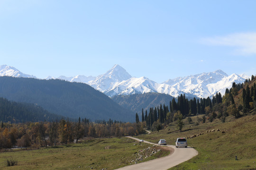
<svg viewBox="0 0 256 170">
<path fill-rule="evenodd" d="M 0 76 L 33 77 L 21 73 L 18 69 L 2 65 L 0 66 Z M 242 74 L 227 75 L 222 70 L 209 73 L 177 77 L 168 79 L 163 83 L 156 83 L 146 77 L 132 77 L 119 66 L 114 65 L 109 71 L 100 76 L 48 76 L 45 79 L 61 79 L 69 82 L 79 82 L 91 85 L 96 90 L 113 97 L 115 95 L 143 94 L 143 93 L 164 93 L 173 97 L 178 97 L 185 93 L 187 96 L 207 98 L 216 93 L 224 94 L 226 88 L 230 88 L 233 82 L 243 83 L 249 76 Z"/>
</svg>

